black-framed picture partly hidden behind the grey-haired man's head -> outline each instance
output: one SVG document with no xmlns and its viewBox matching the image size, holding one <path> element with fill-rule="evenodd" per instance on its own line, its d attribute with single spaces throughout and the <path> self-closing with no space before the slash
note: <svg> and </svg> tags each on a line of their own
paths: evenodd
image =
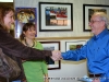
<svg viewBox="0 0 109 82">
<path fill-rule="evenodd" d="M 109 15 L 109 5 L 102 4 L 83 4 L 83 31 L 90 32 L 90 27 L 88 23 L 90 21 L 90 16 L 95 12 L 105 12 Z"/>
</svg>

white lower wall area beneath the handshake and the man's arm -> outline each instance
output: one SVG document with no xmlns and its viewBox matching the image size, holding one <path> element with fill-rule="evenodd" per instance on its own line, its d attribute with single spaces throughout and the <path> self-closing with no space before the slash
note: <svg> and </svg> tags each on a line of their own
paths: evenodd
<svg viewBox="0 0 109 82">
<path fill-rule="evenodd" d="M 50 82 L 77 82 L 77 78 L 87 74 L 85 60 L 61 62 L 60 70 L 49 70 Z"/>
</svg>

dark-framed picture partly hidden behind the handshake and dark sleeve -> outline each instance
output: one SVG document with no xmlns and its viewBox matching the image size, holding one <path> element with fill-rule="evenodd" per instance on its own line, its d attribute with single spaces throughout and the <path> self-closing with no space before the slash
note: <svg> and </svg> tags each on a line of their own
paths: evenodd
<svg viewBox="0 0 109 82">
<path fill-rule="evenodd" d="M 45 50 L 60 50 L 60 42 L 40 42 Z M 50 57 L 46 57 L 48 70 L 60 69 L 61 61 L 53 61 Z"/>
</svg>

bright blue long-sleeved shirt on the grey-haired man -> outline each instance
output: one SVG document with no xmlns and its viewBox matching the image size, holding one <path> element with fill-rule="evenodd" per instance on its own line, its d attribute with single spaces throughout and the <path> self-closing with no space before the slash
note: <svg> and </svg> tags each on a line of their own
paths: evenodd
<svg viewBox="0 0 109 82">
<path fill-rule="evenodd" d="M 87 59 L 87 68 L 90 73 L 102 73 L 105 79 L 109 79 L 109 31 L 105 28 L 80 49 L 62 52 L 62 58 L 74 61 Z M 102 80 L 101 82 L 109 81 Z"/>
</svg>

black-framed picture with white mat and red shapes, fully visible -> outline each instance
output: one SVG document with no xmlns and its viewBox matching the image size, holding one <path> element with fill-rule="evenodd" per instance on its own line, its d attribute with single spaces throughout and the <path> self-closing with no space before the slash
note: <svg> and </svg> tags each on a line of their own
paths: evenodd
<svg viewBox="0 0 109 82">
<path fill-rule="evenodd" d="M 73 31 L 73 4 L 39 2 L 39 32 Z"/>
</svg>

